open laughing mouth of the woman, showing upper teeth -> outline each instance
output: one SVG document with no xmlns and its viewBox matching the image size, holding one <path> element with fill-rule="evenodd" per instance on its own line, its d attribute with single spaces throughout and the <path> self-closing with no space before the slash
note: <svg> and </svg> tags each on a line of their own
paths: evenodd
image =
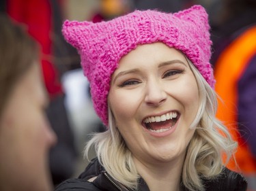
<svg viewBox="0 0 256 191">
<path fill-rule="evenodd" d="M 179 119 L 177 111 L 171 111 L 162 116 L 151 116 L 143 120 L 143 126 L 154 133 L 162 133 L 171 129 Z"/>
</svg>

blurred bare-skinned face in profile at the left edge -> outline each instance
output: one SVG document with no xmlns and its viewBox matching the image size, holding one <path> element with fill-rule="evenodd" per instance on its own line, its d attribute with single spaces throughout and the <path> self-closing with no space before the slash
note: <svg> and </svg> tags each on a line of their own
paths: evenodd
<svg viewBox="0 0 256 191">
<path fill-rule="evenodd" d="M 48 150 L 56 137 L 44 115 L 47 99 L 39 66 L 34 63 L 20 78 L 0 118 L 3 190 L 53 190 Z"/>
</svg>

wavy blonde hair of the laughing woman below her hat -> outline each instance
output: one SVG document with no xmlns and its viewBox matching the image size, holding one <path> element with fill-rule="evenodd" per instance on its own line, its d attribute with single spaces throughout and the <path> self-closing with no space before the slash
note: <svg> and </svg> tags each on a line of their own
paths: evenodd
<svg viewBox="0 0 256 191">
<path fill-rule="evenodd" d="M 227 128 L 215 117 L 216 92 L 190 60 L 188 60 L 188 65 L 197 80 L 200 104 L 197 116 L 190 126 L 190 128 L 195 128 L 195 134 L 187 147 L 182 170 L 182 184 L 188 190 L 203 191 L 201 178 L 216 178 L 223 170 L 223 154 L 227 156 L 228 161 L 237 143 L 231 139 Z M 111 109 L 109 109 L 109 130 L 94 134 L 88 141 L 85 147 L 87 159 L 89 148 L 92 146 L 95 147 L 100 164 L 109 175 L 127 188 L 137 189 L 139 174 L 130 150 L 126 147 L 118 128 L 115 127 Z"/>
</svg>

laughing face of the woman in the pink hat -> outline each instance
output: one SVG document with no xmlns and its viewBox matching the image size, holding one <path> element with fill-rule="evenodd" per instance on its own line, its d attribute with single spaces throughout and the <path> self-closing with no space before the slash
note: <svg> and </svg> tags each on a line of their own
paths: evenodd
<svg viewBox="0 0 256 191">
<path fill-rule="evenodd" d="M 137 160 L 184 159 L 195 132 L 189 127 L 199 108 L 199 90 L 182 53 L 162 43 L 138 46 L 120 60 L 108 99 Z"/>
</svg>

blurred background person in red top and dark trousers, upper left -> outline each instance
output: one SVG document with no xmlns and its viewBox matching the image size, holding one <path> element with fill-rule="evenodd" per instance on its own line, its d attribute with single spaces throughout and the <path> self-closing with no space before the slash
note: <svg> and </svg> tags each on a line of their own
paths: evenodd
<svg viewBox="0 0 256 191">
<path fill-rule="evenodd" d="M 50 151 L 51 176 L 54 184 L 59 184 L 63 179 L 74 175 L 78 154 L 74 126 L 65 105 L 66 92 L 61 82 L 63 73 L 74 65 L 79 65 L 79 59 L 72 61 L 74 48 L 61 35 L 62 13 L 66 2 L 27 0 L 24 3 L 23 0 L 2 0 L 0 6 L 3 6 L 3 12 L 10 18 L 26 25 L 27 33 L 40 44 L 41 56 L 38 64 L 42 67 L 44 85 L 49 97 L 46 114 L 58 140 Z"/>
</svg>

